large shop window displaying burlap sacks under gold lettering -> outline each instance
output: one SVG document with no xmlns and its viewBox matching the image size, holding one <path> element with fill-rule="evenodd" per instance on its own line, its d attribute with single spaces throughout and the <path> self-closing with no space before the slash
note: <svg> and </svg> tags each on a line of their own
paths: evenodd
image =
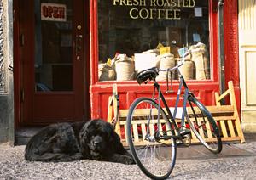
<svg viewBox="0 0 256 180">
<path fill-rule="evenodd" d="M 187 80 L 211 79 L 209 8 L 203 0 L 98 0 L 99 81 L 132 81 L 138 71 L 180 68 Z M 158 81 L 166 81 L 160 74 Z M 177 76 L 173 76 L 177 79 Z"/>
</svg>

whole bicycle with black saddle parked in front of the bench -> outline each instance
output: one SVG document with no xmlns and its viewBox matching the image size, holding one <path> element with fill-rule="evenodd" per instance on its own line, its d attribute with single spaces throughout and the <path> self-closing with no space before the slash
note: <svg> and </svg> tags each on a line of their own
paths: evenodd
<svg viewBox="0 0 256 180">
<path fill-rule="evenodd" d="M 152 98 L 137 98 L 131 104 L 126 118 L 127 141 L 137 166 L 145 175 L 153 179 L 165 179 L 171 175 L 176 161 L 177 144 L 183 142 L 185 145 L 190 145 L 190 129 L 194 132 L 199 142 L 212 151 L 212 153 L 218 154 L 222 150 L 222 141 L 216 121 L 214 121 L 206 107 L 189 91 L 189 87 L 178 69 L 183 65 L 184 58 L 189 53 L 191 52 L 188 51 L 183 55 L 182 63 L 166 70 L 168 93 L 172 91 L 172 88 L 169 90 L 169 72 L 172 75 L 172 72 L 177 70 L 179 76 L 179 87 L 173 114 L 160 90 L 160 84 L 155 80 L 160 69 L 154 67 L 137 74 L 137 82 L 139 84 L 154 81 L 154 92 Z M 178 126 L 176 123 L 177 106 L 183 87 L 183 111 L 181 124 Z M 158 98 L 154 97 L 156 92 L 158 92 Z M 189 107 L 189 112 L 187 107 Z M 143 113 L 143 116 L 138 118 L 137 113 Z M 147 123 L 145 126 L 139 126 L 140 121 L 147 121 Z M 132 124 L 137 124 L 137 130 L 132 127 Z M 139 133 L 143 143 L 146 144 L 135 145 L 135 131 Z"/>
</svg>

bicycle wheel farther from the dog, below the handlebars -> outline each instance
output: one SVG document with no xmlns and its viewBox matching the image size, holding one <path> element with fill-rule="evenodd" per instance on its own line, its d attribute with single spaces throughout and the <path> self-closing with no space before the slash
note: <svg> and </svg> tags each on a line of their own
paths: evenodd
<svg viewBox="0 0 256 180">
<path fill-rule="evenodd" d="M 195 137 L 212 153 L 218 154 L 222 150 L 219 128 L 212 114 L 193 95 L 189 94 L 189 106 L 192 113 L 186 113 L 190 129 Z"/>
</svg>

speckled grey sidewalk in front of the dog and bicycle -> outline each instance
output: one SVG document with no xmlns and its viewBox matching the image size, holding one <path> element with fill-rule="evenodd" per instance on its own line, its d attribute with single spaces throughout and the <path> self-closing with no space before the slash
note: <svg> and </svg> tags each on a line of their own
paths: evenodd
<svg viewBox="0 0 256 180">
<path fill-rule="evenodd" d="M 177 149 L 172 179 L 256 179 L 256 136 L 224 143 L 220 155 L 202 146 Z M 42 163 L 24 160 L 25 146 L 0 145 L 0 179 L 148 179 L 137 165 L 79 160 Z"/>
</svg>

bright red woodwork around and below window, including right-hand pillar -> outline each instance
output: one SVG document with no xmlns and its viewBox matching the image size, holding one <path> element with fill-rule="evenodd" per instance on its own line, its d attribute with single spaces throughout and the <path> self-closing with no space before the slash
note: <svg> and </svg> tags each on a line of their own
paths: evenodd
<svg viewBox="0 0 256 180">
<path fill-rule="evenodd" d="M 206 81 L 189 81 L 189 89 L 205 105 L 215 104 L 215 92 L 219 92 L 219 59 L 218 59 L 218 0 L 209 1 L 209 42 L 212 78 Z M 237 30 L 237 1 L 226 0 L 224 3 L 224 65 L 225 84 L 234 82 L 236 103 L 240 110 L 239 59 L 238 59 L 238 30 Z M 118 85 L 120 109 L 129 109 L 135 98 L 152 96 L 152 84 L 138 85 L 136 81 L 98 82 L 98 26 L 97 1 L 90 0 L 90 110 L 92 118 L 108 117 L 108 98 L 112 95 L 112 85 Z M 166 83 L 162 83 L 162 91 Z M 177 81 L 173 88 L 177 89 Z M 169 103 L 174 102 L 175 94 L 166 96 Z M 167 102 L 168 103 L 168 102 Z"/>
</svg>

